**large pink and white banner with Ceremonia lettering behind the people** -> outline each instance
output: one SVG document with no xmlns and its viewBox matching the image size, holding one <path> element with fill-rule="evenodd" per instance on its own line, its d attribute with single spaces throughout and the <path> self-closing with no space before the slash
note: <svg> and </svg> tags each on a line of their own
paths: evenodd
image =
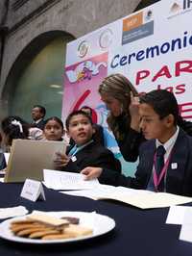
<svg viewBox="0 0 192 256">
<path fill-rule="evenodd" d="M 97 90 L 104 77 L 122 73 L 139 92 L 173 91 L 180 115 L 192 121 L 191 16 L 191 0 L 161 0 L 68 43 L 63 120 L 88 105 L 95 121 L 107 127 L 108 113 Z M 118 151 L 115 142 L 109 147 Z"/>
</svg>

